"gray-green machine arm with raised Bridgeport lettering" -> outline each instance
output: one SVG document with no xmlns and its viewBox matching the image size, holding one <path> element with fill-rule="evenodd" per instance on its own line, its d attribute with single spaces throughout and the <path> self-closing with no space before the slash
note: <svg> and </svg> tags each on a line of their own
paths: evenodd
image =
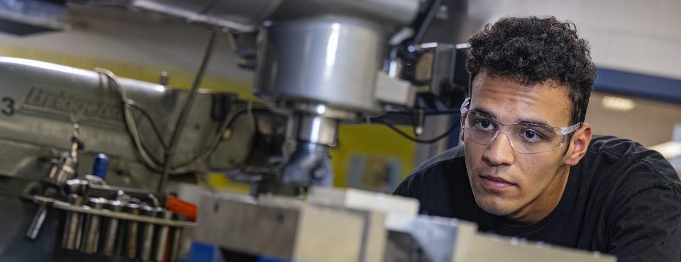
<svg viewBox="0 0 681 262">
<path fill-rule="evenodd" d="M 80 138 L 85 149 L 79 154 L 79 173 L 92 171 L 92 159 L 98 153 L 111 158 L 107 182 L 114 186 L 155 188 L 158 176 L 139 160 L 123 125 L 120 98 L 102 84 L 96 73 L 27 59 L 0 57 L 2 100 L 0 114 L 0 175 L 39 179 L 48 172 L 55 151 L 70 148 L 73 123 L 79 124 Z M 172 132 L 179 105 L 185 91 L 132 79 L 118 79 L 122 89 L 134 101 L 143 105 L 160 128 L 164 137 Z M 221 120 L 211 118 L 213 93 L 197 96 L 179 144 L 174 163 L 186 163 L 206 150 Z M 135 113 L 140 137 L 152 154 L 162 156 L 160 142 L 145 118 Z M 233 137 L 223 144 L 238 148 L 248 145 L 253 137 L 251 125 L 232 130 Z M 221 147 L 224 148 L 224 147 Z M 221 169 L 230 168 L 248 156 L 249 150 L 218 150 L 222 161 L 207 161 Z M 231 165 L 230 165 L 231 164 Z"/>
</svg>

